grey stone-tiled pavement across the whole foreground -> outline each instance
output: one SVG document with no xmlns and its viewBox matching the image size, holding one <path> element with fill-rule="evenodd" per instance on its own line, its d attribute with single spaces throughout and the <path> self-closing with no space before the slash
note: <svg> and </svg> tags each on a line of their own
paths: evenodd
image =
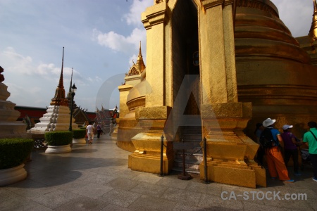
<svg viewBox="0 0 317 211">
<path fill-rule="evenodd" d="M 71 153 L 33 151 L 27 179 L 0 187 L 0 210 L 317 210 L 310 167 L 300 177 L 290 167 L 294 184 L 269 179 L 253 189 L 131 171 L 129 154 L 107 134 Z"/>
</svg>

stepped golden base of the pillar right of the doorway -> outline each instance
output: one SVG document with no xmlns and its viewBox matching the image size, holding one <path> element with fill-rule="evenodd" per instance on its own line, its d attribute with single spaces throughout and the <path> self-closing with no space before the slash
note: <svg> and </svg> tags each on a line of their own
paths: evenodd
<svg viewBox="0 0 317 211">
<path fill-rule="evenodd" d="M 259 144 L 242 132 L 251 118 L 251 103 L 218 103 L 203 108 L 207 178 L 202 162 L 201 179 L 249 188 L 266 186 L 266 170 L 253 160 Z M 200 144 L 204 148 L 204 143 Z"/>
</svg>

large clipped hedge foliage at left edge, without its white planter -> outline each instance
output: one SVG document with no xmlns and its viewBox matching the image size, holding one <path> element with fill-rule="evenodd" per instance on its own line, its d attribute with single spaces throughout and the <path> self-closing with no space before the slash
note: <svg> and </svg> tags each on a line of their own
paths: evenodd
<svg viewBox="0 0 317 211">
<path fill-rule="evenodd" d="M 0 170 L 21 165 L 33 147 L 33 139 L 0 139 Z"/>
</svg>

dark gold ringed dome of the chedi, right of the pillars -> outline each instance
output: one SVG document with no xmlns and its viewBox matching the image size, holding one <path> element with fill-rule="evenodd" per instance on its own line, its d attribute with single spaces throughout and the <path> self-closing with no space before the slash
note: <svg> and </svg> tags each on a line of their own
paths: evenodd
<svg viewBox="0 0 317 211">
<path fill-rule="evenodd" d="M 247 135 L 254 137 L 256 122 L 271 117 L 278 129 L 293 124 L 302 137 L 306 123 L 317 118 L 317 69 L 271 1 L 237 1 L 236 13 L 238 98 L 252 103 Z"/>
</svg>

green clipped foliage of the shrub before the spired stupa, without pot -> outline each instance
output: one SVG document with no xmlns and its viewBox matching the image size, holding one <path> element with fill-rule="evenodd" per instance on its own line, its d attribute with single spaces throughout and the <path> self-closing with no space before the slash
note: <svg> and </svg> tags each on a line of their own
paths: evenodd
<svg viewBox="0 0 317 211">
<path fill-rule="evenodd" d="M 45 141 L 49 146 L 62 146 L 68 145 L 73 141 L 73 132 L 46 132 Z"/>
</svg>

